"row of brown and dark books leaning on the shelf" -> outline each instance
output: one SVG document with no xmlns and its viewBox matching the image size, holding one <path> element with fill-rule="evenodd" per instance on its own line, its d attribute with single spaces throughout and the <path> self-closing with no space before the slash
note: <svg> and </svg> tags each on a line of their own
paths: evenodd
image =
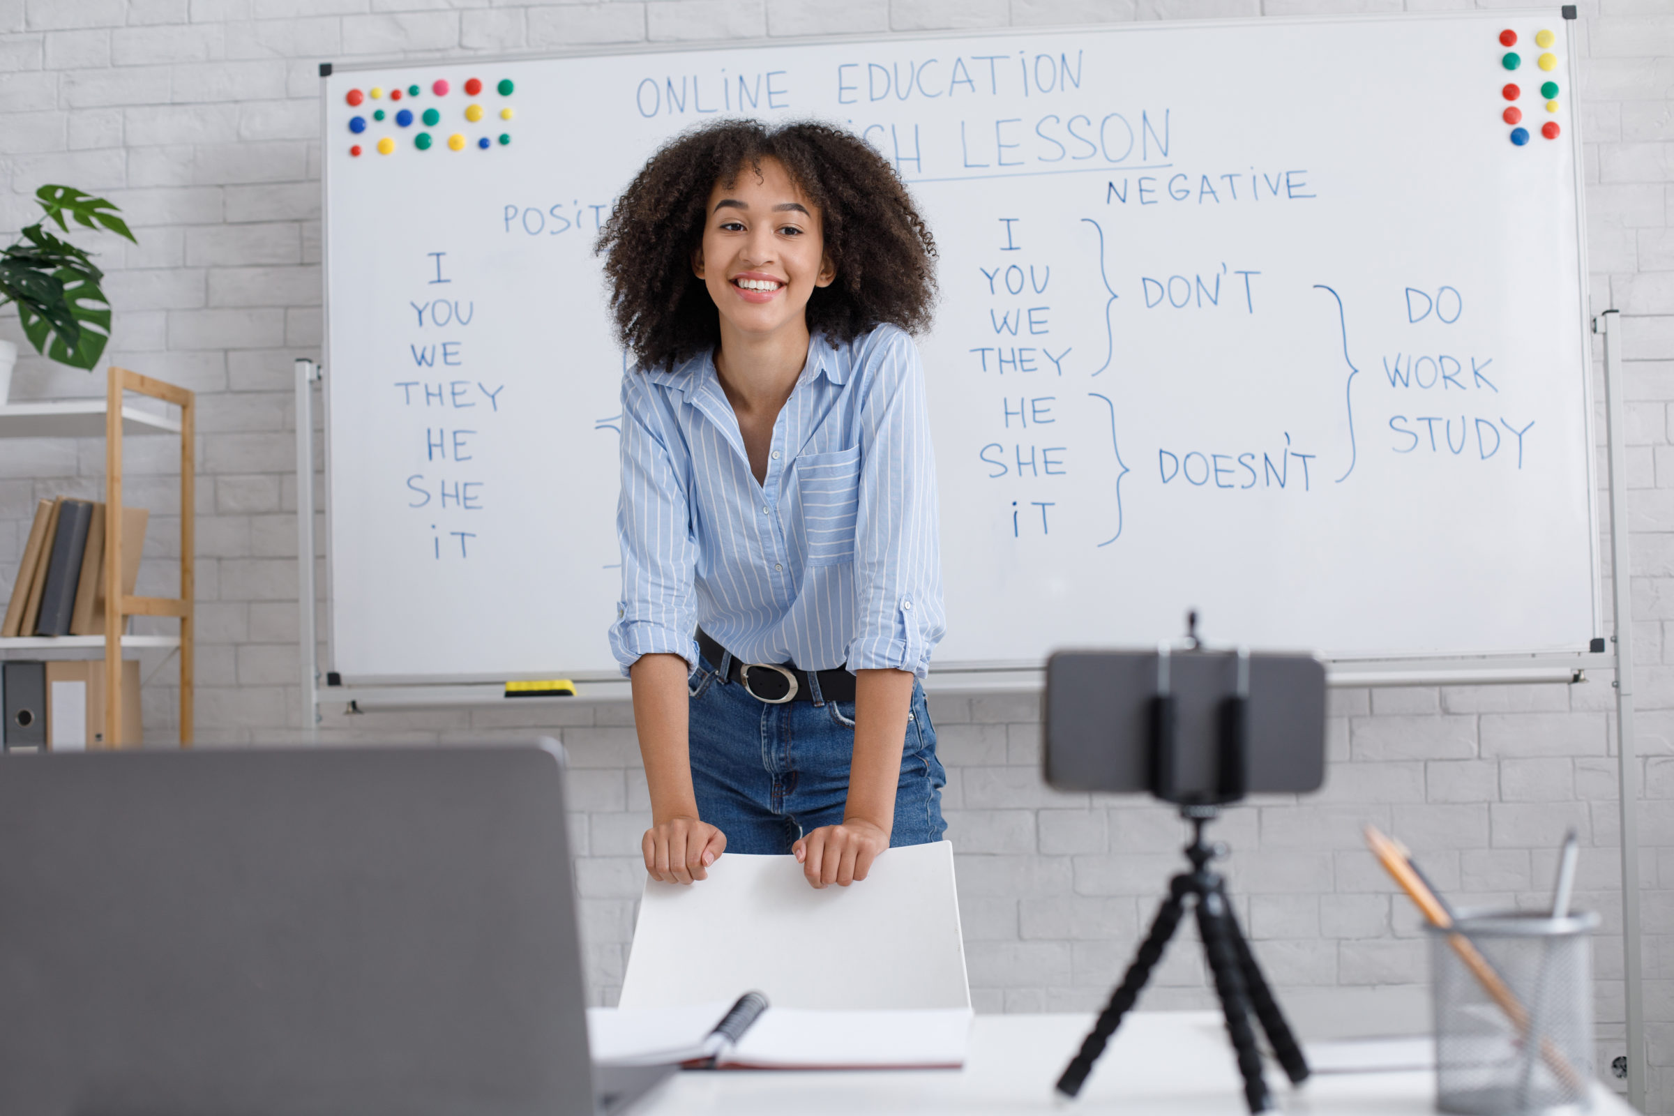
<svg viewBox="0 0 1674 1116">
<path fill-rule="evenodd" d="M 139 581 L 147 517 L 142 507 L 122 509 L 124 596 Z M 104 504 L 40 500 L 0 636 L 102 636 L 104 544 Z"/>
</svg>

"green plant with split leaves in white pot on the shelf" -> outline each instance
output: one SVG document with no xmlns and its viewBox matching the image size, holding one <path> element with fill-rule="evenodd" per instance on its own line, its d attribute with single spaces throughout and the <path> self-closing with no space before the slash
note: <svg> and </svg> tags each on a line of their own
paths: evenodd
<svg viewBox="0 0 1674 1116">
<path fill-rule="evenodd" d="M 42 356 L 90 370 L 110 340 L 110 303 L 99 289 L 104 271 L 80 248 L 42 226 L 54 221 L 69 233 L 69 216 L 89 229 L 102 228 L 137 241 L 116 216 L 119 209 L 104 197 L 74 186 L 42 186 L 35 201 L 47 216 L 25 228 L 15 244 L 0 249 L 0 306 L 17 305 L 23 336 Z M 15 361 L 17 345 L 0 341 L 0 403 L 12 388 Z"/>
</svg>

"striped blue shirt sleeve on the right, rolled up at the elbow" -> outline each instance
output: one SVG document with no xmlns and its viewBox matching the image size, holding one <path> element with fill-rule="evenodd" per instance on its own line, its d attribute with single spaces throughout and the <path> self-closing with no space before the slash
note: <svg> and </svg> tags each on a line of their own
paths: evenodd
<svg viewBox="0 0 1674 1116">
<path fill-rule="evenodd" d="M 924 678 L 946 632 L 936 458 L 924 400 L 924 365 L 912 340 L 881 331 L 860 403 L 860 490 L 855 515 L 855 634 L 849 669 Z"/>
</svg>

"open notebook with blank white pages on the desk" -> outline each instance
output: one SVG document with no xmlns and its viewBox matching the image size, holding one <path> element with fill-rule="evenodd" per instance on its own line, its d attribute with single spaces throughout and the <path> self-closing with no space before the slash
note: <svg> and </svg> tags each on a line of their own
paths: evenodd
<svg viewBox="0 0 1674 1116">
<path fill-rule="evenodd" d="M 971 1011 L 768 1007 L 737 1039 L 716 1034 L 728 1004 L 589 1007 L 593 1057 L 608 1064 L 706 1062 L 716 1069 L 959 1069 Z"/>
</svg>

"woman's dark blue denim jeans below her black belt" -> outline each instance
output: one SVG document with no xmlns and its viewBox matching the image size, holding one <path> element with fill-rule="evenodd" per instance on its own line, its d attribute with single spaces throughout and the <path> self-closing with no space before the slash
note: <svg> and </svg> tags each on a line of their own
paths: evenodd
<svg viewBox="0 0 1674 1116">
<path fill-rule="evenodd" d="M 842 823 L 854 703 L 767 704 L 715 668 L 701 659 L 690 679 L 691 785 L 698 817 L 727 835 L 727 852 L 788 853 L 804 833 Z M 947 828 L 941 817 L 947 773 L 936 758 L 936 728 L 917 683 L 907 708 L 892 847 L 939 842 Z"/>
</svg>

